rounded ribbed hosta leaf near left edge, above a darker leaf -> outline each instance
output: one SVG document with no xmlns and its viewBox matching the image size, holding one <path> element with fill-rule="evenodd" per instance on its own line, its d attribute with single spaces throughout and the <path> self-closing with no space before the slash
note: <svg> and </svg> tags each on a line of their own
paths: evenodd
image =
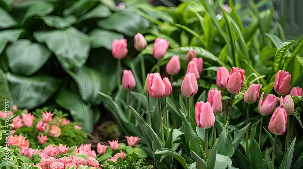
<svg viewBox="0 0 303 169">
<path fill-rule="evenodd" d="M 6 50 L 8 66 L 12 72 L 30 76 L 37 72 L 51 56 L 51 52 L 39 43 L 19 39 Z M 28 69 L 31 68 L 31 69 Z"/>
</svg>

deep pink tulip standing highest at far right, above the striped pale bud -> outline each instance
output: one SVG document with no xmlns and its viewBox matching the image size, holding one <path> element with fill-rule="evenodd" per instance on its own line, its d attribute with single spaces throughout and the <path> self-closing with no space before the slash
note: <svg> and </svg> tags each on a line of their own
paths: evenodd
<svg viewBox="0 0 303 169">
<path fill-rule="evenodd" d="M 275 78 L 275 92 L 285 96 L 290 90 L 291 75 L 284 70 L 279 70 Z"/>
</svg>

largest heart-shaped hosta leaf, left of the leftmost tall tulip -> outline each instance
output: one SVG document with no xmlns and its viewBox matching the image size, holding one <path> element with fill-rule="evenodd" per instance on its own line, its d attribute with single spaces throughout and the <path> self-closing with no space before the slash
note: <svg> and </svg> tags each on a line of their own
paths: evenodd
<svg viewBox="0 0 303 169">
<path fill-rule="evenodd" d="M 34 37 L 39 43 L 46 43 L 60 64 L 70 70 L 79 69 L 85 64 L 91 48 L 91 39 L 88 35 L 75 27 L 35 32 Z"/>
</svg>

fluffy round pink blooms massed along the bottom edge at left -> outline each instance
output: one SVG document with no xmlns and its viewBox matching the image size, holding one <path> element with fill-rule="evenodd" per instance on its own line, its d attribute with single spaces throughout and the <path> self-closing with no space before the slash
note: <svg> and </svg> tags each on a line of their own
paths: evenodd
<svg viewBox="0 0 303 169">
<path fill-rule="evenodd" d="M 78 168 L 78 165 L 96 167 L 100 169 L 99 162 L 93 157 L 77 157 L 74 155 L 65 156 L 61 158 L 44 157 L 41 159 L 39 164 L 35 166 L 41 167 L 42 169 L 65 169 L 68 167 Z"/>
</svg>

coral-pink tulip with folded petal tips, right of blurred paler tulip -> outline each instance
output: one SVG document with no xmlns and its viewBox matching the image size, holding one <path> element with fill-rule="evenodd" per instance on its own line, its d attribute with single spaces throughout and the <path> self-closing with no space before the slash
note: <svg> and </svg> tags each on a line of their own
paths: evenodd
<svg viewBox="0 0 303 169">
<path fill-rule="evenodd" d="M 239 93 L 244 81 L 245 70 L 241 68 L 231 68 L 227 78 L 226 88 L 230 93 Z"/>
</svg>

